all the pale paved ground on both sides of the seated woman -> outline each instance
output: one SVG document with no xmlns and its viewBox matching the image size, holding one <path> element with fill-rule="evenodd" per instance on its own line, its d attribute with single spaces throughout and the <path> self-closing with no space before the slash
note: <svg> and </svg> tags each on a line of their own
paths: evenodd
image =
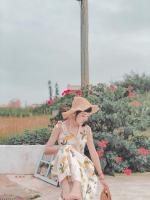
<svg viewBox="0 0 150 200">
<path fill-rule="evenodd" d="M 150 200 L 150 173 L 106 176 L 112 200 Z M 97 198 L 101 191 L 98 187 Z M 60 188 L 32 175 L 0 175 L 0 200 L 57 200 Z"/>
</svg>

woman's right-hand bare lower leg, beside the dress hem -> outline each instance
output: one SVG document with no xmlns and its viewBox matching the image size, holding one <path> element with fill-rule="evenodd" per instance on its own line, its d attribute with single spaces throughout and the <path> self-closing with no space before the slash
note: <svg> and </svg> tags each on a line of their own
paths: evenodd
<svg viewBox="0 0 150 200">
<path fill-rule="evenodd" d="M 81 183 L 79 181 L 73 182 L 72 190 L 69 193 L 69 198 L 71 200 L 82 200 Z"/>
</svg>

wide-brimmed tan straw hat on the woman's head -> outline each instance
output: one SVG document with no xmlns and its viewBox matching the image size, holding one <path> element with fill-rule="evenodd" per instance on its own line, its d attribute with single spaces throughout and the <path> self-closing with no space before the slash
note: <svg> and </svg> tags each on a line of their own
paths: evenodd
<svg viewBox="0 0 150 200">
<path fill-rule="evenodd" d="M 62 113 L 62 116 L 64 119 L 68 118 L 71 114 L 73 114 L 76 111 L 84 111 L 88 108 L 92 108 L 92 111 L 90 115 L 93 113 L 96 113 L 100 108 L 97 105 L 91 104 L 87 99 L 83 97 L 74 97 L 73 102 L 72 102 L 72 107 Z"/>
</svg>

